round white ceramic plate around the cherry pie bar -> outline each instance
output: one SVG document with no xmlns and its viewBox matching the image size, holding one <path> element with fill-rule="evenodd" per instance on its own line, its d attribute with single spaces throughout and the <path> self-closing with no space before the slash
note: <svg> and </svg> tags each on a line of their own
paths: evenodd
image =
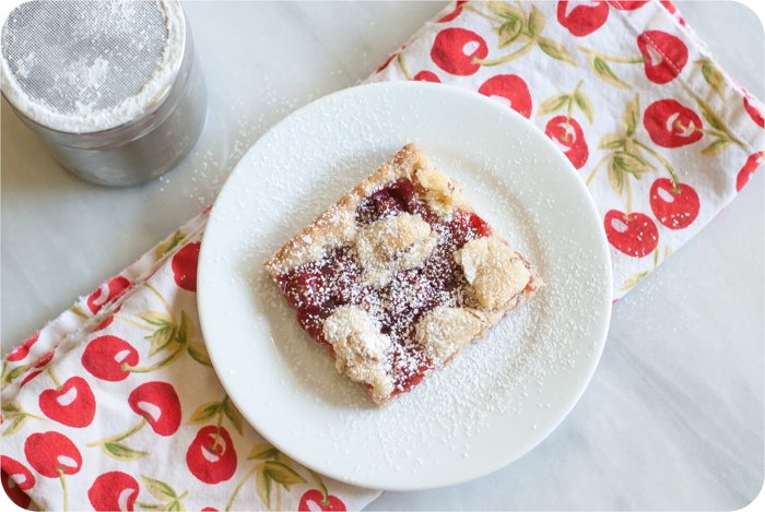
<svg viewBox="0 0 765 512">
<path fill-rule="evenodd" d="M 262 262 L 410 141 L 546 286 L 378 409 L 301 330 Z M 317 472 L 389 490 L 467 481 L 541 442 L 587 386 L 611 314 L 603 228 L 565 156 L 509 108 L 423 82 L 332 94 L 260 139 L 215 201 L 198 281 L 210 356 L 247 420 Z"/>
</svg>

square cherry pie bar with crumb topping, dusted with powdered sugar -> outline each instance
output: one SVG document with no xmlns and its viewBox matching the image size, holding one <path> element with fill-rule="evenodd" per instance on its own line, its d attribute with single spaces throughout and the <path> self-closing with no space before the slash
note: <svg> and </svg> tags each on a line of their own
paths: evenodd
<svg viewBox="0 0 765 512">
<path fill-rule="evenodd" d="M 414 144 L 263 264 L 338 372 L 378 405 L 481 340 L 542 284 Z"/>
</svg>

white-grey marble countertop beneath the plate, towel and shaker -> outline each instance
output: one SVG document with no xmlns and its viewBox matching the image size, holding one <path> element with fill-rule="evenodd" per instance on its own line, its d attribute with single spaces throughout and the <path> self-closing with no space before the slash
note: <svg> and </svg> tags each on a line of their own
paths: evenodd
<svg viewBox="0 0 765 512">
<path fill-rule="evenodd" d="M 85 183 L 2 103 L 2 353 L 212 203 L 289 112 L 365 79 L 444 2 L 187 2 L 209 88 L 191 155 L 155 182 Z M 763 27 L 734 2 L 683 2 L 760 98 Z M 765 172 L 614 306 L 600 366 L 538 448 L 460 486 L 367 510 L 735 510 L 763 485 Z"/>
</svg>

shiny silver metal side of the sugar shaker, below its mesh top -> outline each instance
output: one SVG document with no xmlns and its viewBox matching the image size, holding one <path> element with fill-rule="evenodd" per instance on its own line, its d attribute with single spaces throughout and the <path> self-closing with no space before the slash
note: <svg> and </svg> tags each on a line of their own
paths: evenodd
<svg viewBox="0 0 765 512">
<path fill-rule="evenodd" d="M 63 131 L 36 122 L 11 100 L 9 105 L 54 158 L 82 179 L 104 186 L 129 186 L 158 178 L 192 150 L 207 117 L 204 79 L 185 15 L 183 23 L 185 44 L 174 76 L 119 126 Z"/>
</svg>

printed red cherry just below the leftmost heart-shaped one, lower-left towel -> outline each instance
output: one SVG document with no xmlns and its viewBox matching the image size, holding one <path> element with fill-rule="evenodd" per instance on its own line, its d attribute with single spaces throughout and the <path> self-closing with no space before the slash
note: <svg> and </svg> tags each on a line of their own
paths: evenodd
<svg viewBox="0 0 765 512">
<path fill-rule="evenodd" d="M 58 432 L 37 432 L 26 438 L 24 455 L 30 465 L 47 478 L 58 478 L 59 473 L 74 475 L 82 467 L 80 450 Z"/>
</svg>

